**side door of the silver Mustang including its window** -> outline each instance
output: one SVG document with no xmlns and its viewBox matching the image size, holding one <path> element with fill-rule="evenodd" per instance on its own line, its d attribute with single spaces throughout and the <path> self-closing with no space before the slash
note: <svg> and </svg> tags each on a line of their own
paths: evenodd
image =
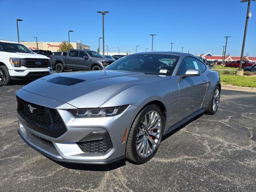
<svg viewBox="0 0 256 192">
<path fill-rule="evenodd" d="M 200 71 L 200 75 L 181 77 L 188 69 L 197 69 Z M 176 75 L 179 85 L 179 120 L 182 120 L 201 108 L 208 87 L 208 79 L 204 75 L 205 71 L 205 64 L 196 58 L 186 57 L 180 64 Z"/>
</svg>

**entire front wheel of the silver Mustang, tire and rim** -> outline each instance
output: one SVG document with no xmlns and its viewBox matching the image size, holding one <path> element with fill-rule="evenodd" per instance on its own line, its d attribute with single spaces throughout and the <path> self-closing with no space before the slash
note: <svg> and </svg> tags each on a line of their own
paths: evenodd
<svg viewBox="0 0 256 192">
<path fill-rule="evenodd" d="M 164 132 L 164 116 L 154 104 L 144 108 L 135 118 L 127 138 L 126 158 L 136 164 L 149 161 L 160 145 Z"/>
</svg>

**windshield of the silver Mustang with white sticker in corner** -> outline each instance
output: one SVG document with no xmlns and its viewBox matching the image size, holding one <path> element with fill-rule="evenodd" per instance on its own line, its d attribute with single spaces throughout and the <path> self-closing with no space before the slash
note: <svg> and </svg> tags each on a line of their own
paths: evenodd
<svg viewBox="0 0 256 192">
<path fill-rule="evenodd" d="M 124 70 L 145 74 L 171 75 L 179 56 L 170 54 L 133 54 L 116 60 L 105 70 Z"/>
</svg>

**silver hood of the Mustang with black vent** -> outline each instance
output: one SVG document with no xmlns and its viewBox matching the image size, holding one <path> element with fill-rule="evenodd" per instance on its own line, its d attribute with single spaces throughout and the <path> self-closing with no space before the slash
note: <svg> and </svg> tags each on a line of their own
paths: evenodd
<svg viewBox="0 0 256 192">
<path fill-rule="evenodd" d="M 61 80 L 64 78 L 74 78 L 77 83 L 64 85 L 65 80 Z M 57 79 L 59 82 L 52 82 Z M 70 72 L 46 76 L 22 89 L 77 108 L 96 108 L 129 87 L 166 79 L 170 76 L 119 70 Z"/>
</svg>

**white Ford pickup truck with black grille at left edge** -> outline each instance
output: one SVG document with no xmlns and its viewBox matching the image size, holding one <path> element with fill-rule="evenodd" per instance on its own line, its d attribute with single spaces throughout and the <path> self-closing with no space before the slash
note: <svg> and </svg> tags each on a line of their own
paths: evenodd
<svg viewBox="0 0 256 192">
<path fill-rule="evenodd" d="M 0 40 L 0 85 L 11 80 L 34 80 L 52 72 L 50 58 L 17 42 Z"/>
</svg>

